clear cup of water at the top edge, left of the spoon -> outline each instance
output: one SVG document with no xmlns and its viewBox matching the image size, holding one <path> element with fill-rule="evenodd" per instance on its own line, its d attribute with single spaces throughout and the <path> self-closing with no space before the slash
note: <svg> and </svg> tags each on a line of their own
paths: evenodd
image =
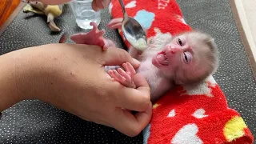
<svg viewBox="0 0 256 144">
<path fill-rule="evenodd" d="M 97 25 L 101 22 L 101 11 L 94 11 L 91 7 L 92 0 L 73 0 L 70 2 L 74 18 L 79 27 L 82 29 L 92 29 L 90 22 Z"/>
</svg>

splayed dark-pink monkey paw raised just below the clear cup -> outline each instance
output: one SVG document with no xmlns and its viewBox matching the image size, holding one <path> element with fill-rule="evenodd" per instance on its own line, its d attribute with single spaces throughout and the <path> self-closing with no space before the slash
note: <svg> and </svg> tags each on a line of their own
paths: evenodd
<svg viewBox="0 0 256 144">
<path fill-rule="evenodd" d="M 98 30 L 98 25 L 95 22 L 90 22 L 90 26 L 93 26 L 90 32 L 74 34 L 70 39 L 77 44 L 101 46 L 103 50 L 107 50 L 110 46 L 115 46 L 114 42 L 110 39 L 103 38 L 103 35 L 106 33 L 104 29 Z"/>
</svg>

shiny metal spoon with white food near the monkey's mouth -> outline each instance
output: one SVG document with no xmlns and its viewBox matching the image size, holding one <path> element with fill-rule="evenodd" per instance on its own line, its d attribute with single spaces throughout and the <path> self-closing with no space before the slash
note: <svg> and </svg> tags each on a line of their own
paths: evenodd
<svg viewBox="0 0 256 144">
<path fill-rule="evenodd" d="M 122 0 L 119 0 L 120 5 L 122 6 L 123 20 L 122 20 L 122 32 L 130 42 L 131 46 L 134 46 L 137 50 L 146 49 L 146 33 L 143 30 L 142 26 L 134 19 L 126 14 L 125 6 Z"/>
</svg>

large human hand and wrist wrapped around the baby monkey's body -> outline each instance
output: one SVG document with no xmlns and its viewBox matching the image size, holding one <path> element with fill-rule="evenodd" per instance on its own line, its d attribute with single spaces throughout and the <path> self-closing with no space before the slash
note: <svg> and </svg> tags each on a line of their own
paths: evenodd
<svg viewBox="0 0 256 144">
<path fill-rule="evenodd" d="M 150 122 L 152 105 L 146 79 L 135 74 L 133 81 L 137 88 L 128 88 L 104 70 L 105 65 L 122 66 L 124 62 L 138 68 L 139 63 L 125 50 L 50 44 L 19 53 L 16 69 L 23 99 L 48 102 L 128 136 L 139 134 Z M 131 114 L 130 110 L 138 113 Z"/>
</svg>

